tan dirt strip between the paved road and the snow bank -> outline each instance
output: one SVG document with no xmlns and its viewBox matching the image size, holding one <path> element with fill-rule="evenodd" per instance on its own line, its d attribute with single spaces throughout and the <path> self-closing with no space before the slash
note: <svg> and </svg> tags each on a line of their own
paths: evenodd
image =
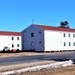
<svg viewBox="0 0 75 75">
<path fill-rule="evenodd" d="M 41 61 L 41 62 L 30 62 L 30 63 L 16 64 L 16 65 L 0 66 L 0 72 L 17 70 L 17 69 L 36 66 L 36 65 L 45 65 L 45 64 L 55 63 L 55 62 L 56 61 Z"/>
</svg>

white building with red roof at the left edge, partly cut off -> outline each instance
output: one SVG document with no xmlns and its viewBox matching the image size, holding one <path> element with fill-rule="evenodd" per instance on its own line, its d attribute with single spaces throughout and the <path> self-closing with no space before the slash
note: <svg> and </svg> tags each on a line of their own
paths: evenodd
<svg viewBox="0 0 75 75">
<path fill-rule="evenodd" d="M 9 50 L 22 50 L 20 32 L 0 31 L 0 51 L 7 47 Z"/>
</svg>

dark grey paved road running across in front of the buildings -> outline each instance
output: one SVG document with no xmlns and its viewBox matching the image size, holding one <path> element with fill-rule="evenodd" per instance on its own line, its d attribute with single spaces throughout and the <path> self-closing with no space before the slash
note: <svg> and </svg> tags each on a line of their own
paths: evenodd
<svg viewBox="0 0 75 75">
<path fill-rule="evenodd" d="M 75 52 L 0 58 L 0 66 L 30 63 L 37 61 L 41 62 L 46 60 L 65 61 L 70 59 L 72 59 L 75 62 Z"/>
</svg>

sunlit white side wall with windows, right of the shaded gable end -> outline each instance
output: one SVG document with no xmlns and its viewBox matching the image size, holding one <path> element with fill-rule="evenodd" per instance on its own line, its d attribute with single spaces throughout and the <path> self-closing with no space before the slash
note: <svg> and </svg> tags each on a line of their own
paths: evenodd
<svg viewBox="0 0 75 75">
<path fill-rule="evenodd" d="M 75 33 L 46 30 L 44 34 L 45 51 L 75 50 L 75 37 L 73 37 Z M 66 46 L 64 46 L 64 43 Z"/>
</svg>

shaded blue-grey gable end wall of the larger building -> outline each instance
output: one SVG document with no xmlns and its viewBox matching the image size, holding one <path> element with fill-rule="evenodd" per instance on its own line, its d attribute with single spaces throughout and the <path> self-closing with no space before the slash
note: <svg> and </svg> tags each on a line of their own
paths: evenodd
<svg viewBox="0 0 75 75">
<path fill-rule="evenodd" d="M 33 33 L 33 37 L 31 34 Z M 34 25 L 22 31 L 22 49 L 44 51 L 44 31 Z"/>
</svg>

